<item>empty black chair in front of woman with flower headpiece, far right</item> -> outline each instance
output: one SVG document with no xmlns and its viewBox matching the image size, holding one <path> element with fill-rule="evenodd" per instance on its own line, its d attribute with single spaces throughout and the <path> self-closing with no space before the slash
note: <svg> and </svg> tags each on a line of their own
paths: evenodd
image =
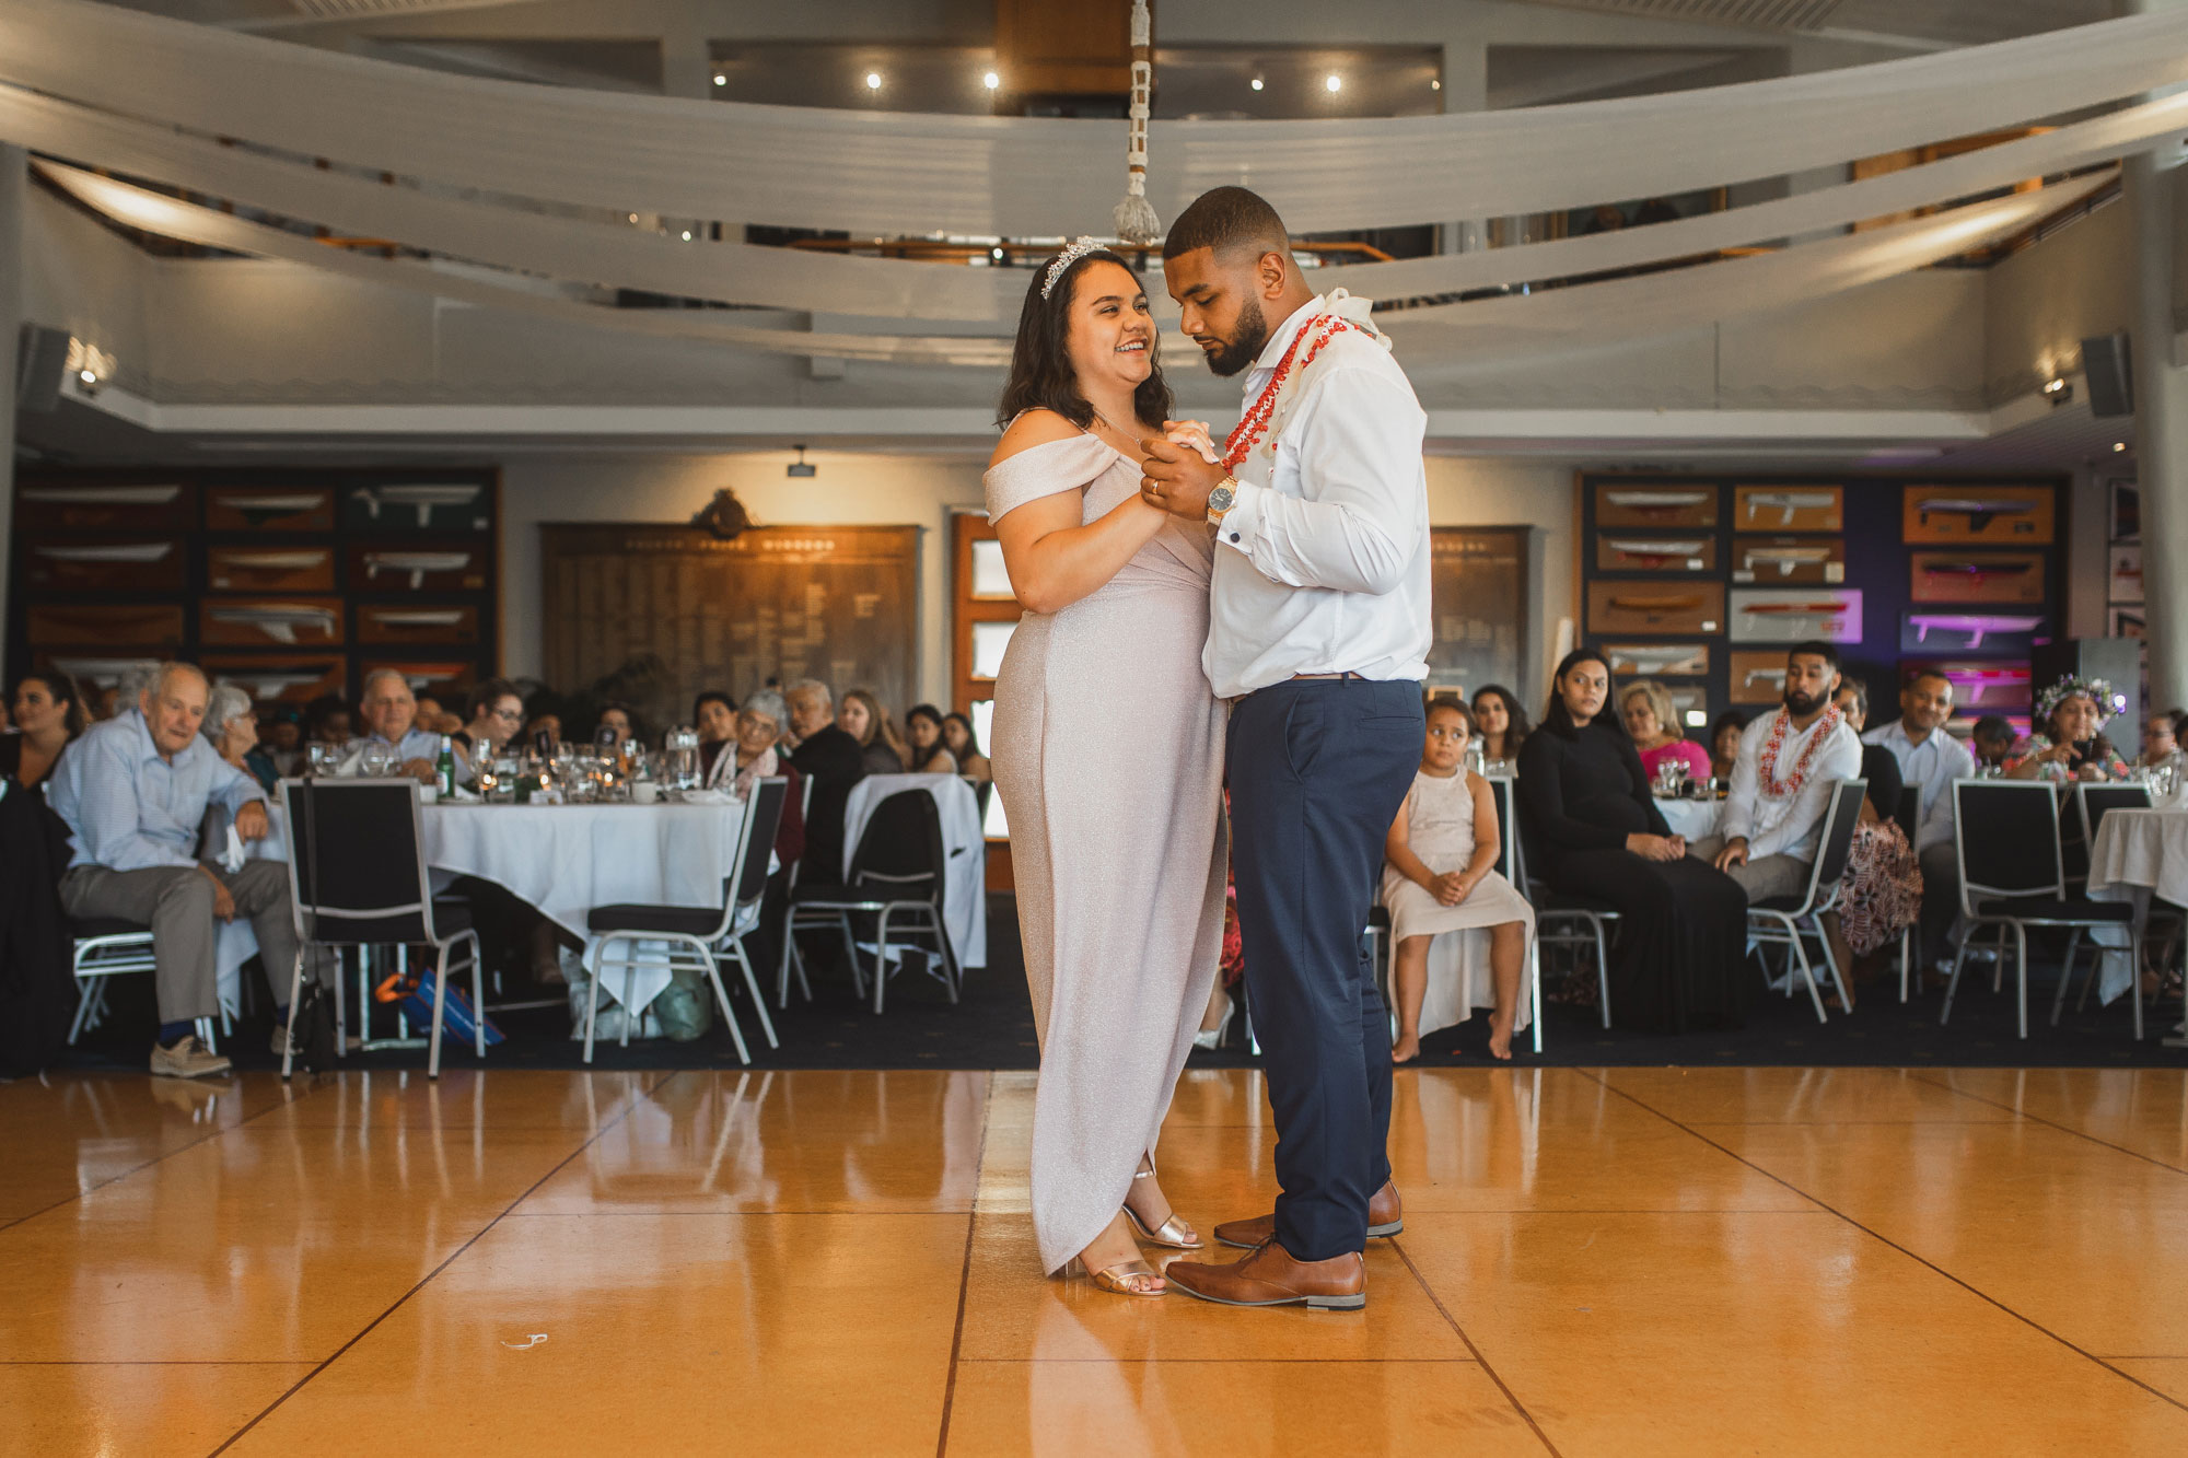
<svg viewBox="0 0 2188 1458">
<path fill-rule="evenodd" d="M 1960 915 L 1967 930 L 1952 957 L 1952 979 L 1945 983 L 1945 1009 L 1939 1022 L 1952 1018 L 1952 998 L 1960 990 L 1960 968 L 1976 928 L 1998 926 L 2013 937 L 2015 981 L 2020 998 L 2020 1035 L 2028 1038 L 2028 928 L 2059 926 L 2068 930 L 2065 961 L 2059 968 L 2059 996 L 2074 976 L 2074 954 L 2083 933 L 2100 926 L 2125 926 L 2131 965 L 2142 965 L 2142 933 L 2135 930 L 2135 909 L 2127 902 L 2094 902 L 2068 895 L 2065 858 L 2059 847 L 2059 797 L 2041 779 L 1954 779 L 1952 843 L 1960 858 Z M 2103 950 L 2092 946 L 2092 954 Z M 2135 1007 L 2135 1042 L 2142 1042 L 2142 994 L 2129 990 Z"/>
</svg>

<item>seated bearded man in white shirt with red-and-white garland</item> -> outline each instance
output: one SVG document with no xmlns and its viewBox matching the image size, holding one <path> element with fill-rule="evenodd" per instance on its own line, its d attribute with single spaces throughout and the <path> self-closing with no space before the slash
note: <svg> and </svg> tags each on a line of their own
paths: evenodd
<svg viewBox="0 0 2188 1458">
<path fill-rule="evenodd" d="M 1838 648 L 1796 644 L 1785 655 L 1785 703 L 1748 725 L 1724 797 L 1724 834 L 1696 845 L 1750 902 L 1807 889 L 1831 786 L 1862 773 L 1862 740 L 1831 694 Z"/>
</svg>

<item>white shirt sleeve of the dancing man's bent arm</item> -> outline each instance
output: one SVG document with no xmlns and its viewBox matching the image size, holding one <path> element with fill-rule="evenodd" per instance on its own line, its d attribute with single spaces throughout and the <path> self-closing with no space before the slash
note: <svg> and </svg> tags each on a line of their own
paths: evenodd
<svg viewBox="0 0 2188 1458">
<path fill-rule="evenodd" d="M 1217 543 L 1284 587 L 1396 591 L 1427 532 L 1427 416 L 1396 383 L 1348 368 L 1317 381 L 1295 420 L 1300 479 L 1315 497 L 1241 482 Z"/>
</svg>

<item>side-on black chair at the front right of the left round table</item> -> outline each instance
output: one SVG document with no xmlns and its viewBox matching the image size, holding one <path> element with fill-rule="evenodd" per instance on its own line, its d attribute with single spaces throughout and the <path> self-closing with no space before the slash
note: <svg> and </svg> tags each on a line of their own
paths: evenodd
<svg viewBox="0 0 2188 1458">
<path fill-rule="evenodd" d="M 729 1025 L 729 1040 L 737 1046 L 737 1062 L 750 1064 L 753 1053 L 744 1046 L 744 1029 L 729 1007 L 729 992 L 722 987 L 720 959 L 729 957 L 744 972 L 744 990 L 759 1011 L 759 1031 L 775 1042 L 775 1020 L 768 1018 L 768 998 L 759 992 L 759 976 L 753 959 L 744 950 L 744 939 L 759 928 L 759 906 L 768 898 L 768 863 L 775 854 L 775 832 L 783 821 L 783 801 L 790 799 L 790 782 L 781 775 L 753 782 L 750 803 L 744 810 L 744 825 L 737 828 L 737 852 L 731 858 L 733 873 L 722 882 L 720 906 L 639 906 L 613 904 L 595 906 L 586 913 L 584 926 L 591 933 L 584 946 L 584 970 L 591 976 L 591 994 L 584 1005 L 584 1062 L 593 1062 L 593 1027 L 600 1022 L 600 983 L 615 965 L 624 972 L 624 1038 L 630 1042 L 630 1025 L 639 1020 L 630 1007 L 630 987 L 639 968 L 667 965 L 672 972 L 689 968 L 700 972 L 713 987 L 713 1000 Z M 652 944 L 661 950 L 643 950 Z M 621 948 L 621 957 L 610 957 L 608 948 Z"/>
</svg>

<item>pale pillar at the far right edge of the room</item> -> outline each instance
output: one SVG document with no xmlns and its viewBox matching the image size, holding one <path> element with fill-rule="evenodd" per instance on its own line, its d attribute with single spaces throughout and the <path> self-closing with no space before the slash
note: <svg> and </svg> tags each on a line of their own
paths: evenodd
<svg viewBox="0 0 2188 1458">
<path fill-rule="evenodd" d="M 2142 486 L 2142 622 L 2151 707 L 2188 703 L 2188 370 L 2173 357 L 2173 250 L 2181 169 L 2127 162 L 2135 241 L 2135 475 Z"/>
</svg>

